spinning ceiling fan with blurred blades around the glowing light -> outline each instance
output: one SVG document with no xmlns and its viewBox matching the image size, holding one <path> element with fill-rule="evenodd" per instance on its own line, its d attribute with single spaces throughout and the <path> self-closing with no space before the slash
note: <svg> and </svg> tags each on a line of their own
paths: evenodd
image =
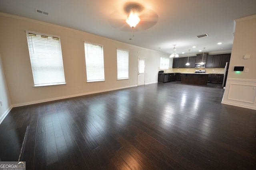
<svg viewBox="0 0 256 170">
<path fill-rule="evenodd" d="M 140 21 L 135 26 L 132 27 L 126 23 L 126 19 L 128 18 L 131 11 L 136 12 Z M 120 10 L 114 11 L 109 16 L 109 24 L 121 31 L 142 31 L 153 27 L 158 21 L 158 14 L 151 9 L 144 8 L 141 4 L 136 2 L 129 2 L 124 5 L 124 7 Z M 131 29 L 132 27 L 132 29 Z"/>
</svg>

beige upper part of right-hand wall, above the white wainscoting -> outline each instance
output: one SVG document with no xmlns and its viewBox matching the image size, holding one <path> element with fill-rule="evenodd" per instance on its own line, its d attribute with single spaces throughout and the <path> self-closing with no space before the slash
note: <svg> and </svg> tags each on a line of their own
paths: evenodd
<svg viewBox="0 0 256 170">
<path fill-rule="evenodd" d="M 244 55 L 251 55 L 244 59 Z M 236 73 L 234 66 L 249 68 L 249 72 Z M 256 16 L 236 20 L 236 29 L 232 54 L 230 59 L 231 70 L 228 78 L 256 80 Z"/>
</svg>

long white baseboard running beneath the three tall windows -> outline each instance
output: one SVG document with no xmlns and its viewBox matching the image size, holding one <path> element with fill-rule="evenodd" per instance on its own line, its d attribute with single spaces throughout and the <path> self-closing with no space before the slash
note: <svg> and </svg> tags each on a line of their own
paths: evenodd
<svg viewBox="0 0 256 170">
<path fill-rule="evenodd" d="M 27 106 L 27 105 L 31 105 L 31 104 L 38 104 L 38 103 L 44 103 L 44 102 L 51 102 L 51 101 L 54 101 L 54 100 L 61 100 L 61 99 L 67 99 L 67 98 L 74 98 L 74 97 L 78 97 L 78 96 L 85 96 L 85 95 L 89 95 L 89 94 L 97 94 L 97 93 L 102 93 L 102 92 L 109 92 L 109 91 L 120 90 L 120 89 L 123 89 L 123 88 L 131 88 L 131 87 L 136 87 L 136 86 L 137 86 L 137 85 L 126 86 L 126 87 L 121 87 L 121 88 L 112 88 L 112 89 L 108 89 L 108 90 L 100 90 L 100 91 L 95 91 L 95 92 L 74 94 L 74 95 L 70 95 L 70 96 L 61 96 L 61 97 L 58 97 L 58 98 L 50 98 L 50 99 L 45 99 L 45 100 L 37 100 L 37 101 L 33 101 L 33 102 L 26 102 L 26 103 L 21 103 L 21 104 L 14 104 L 14 105 L 12 105 L 12 107 L 20 107 L 20 106 Z"/>
</svg>

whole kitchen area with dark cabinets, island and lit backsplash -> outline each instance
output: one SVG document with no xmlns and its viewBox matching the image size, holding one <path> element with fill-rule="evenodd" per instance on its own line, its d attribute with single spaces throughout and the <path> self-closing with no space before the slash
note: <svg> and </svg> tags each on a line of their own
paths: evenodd
<svg viewBox="0 0 256 170">
<path fill-rule="evenodd" d="M 206 86 L 207 83 L 225 87 L 231 54 L 198 54 L 173 59 L 172 68 L 158 72 L 158 82 L 180 80 L 183 84 Z M 186 63 L 189 63 L 187 65 Z"/>
</svg>

